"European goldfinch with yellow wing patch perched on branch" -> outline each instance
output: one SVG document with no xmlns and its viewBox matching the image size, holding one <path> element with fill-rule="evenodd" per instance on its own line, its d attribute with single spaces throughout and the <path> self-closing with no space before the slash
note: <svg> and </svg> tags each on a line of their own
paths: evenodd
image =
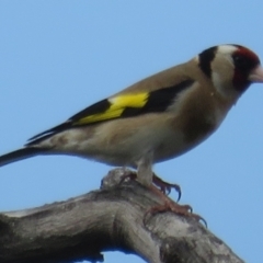
<svg viewBox="0 0 263 263">
<path fill-rule="evenodd" d="M 102 100 L 45 130 L 0 167 L 39 155 L 70 155 L 137 169 L 146 186 L 152 164 L 175 158 L 210 136 L 251 83 L 263 82 L 259 57 L 219 45 Z"/>
</svg>

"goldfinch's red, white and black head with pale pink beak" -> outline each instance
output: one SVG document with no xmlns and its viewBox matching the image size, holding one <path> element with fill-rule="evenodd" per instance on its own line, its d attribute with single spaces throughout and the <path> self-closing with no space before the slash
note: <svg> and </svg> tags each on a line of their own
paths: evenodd
<svg viewBox="0 0 263 263">
<path fill-rule="evenodd" d="M 198 55 L 202 71 L 225 98 L 237 100 L 251 83 L 263 83 L 259 57 L 240 45 L 219 45 Z"/>
</svg>

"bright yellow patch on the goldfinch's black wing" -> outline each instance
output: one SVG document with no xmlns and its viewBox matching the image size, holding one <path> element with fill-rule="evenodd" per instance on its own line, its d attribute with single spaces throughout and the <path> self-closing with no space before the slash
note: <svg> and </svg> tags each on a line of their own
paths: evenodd
<svg viewBox="0 0 263 263">
<path fill-rule="evenodd" d="M 145 92 L 111 98 L 107 100 L 110 107 L 106 111 L 82 117 L 75 122 L 75 125 L 96 123 L 121 117 L 127 107 L 144 107 L 147 103 L 148 96 L 149 93 Z"/>
</svg>

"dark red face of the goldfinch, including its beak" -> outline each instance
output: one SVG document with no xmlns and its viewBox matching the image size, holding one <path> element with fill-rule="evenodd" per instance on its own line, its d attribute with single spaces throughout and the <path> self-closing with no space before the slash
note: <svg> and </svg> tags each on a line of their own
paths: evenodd
<svg viewBox="0 0 263 263">
<path fill-rule="evenodd" d="M 263 68 L 253 52 L 242 46 L 237 47 L 238 49 L 232 54 L 235 66 L 232 81 L 233 87 L 243 92 L 252 82 L 263 82 Z"/>
</svg>

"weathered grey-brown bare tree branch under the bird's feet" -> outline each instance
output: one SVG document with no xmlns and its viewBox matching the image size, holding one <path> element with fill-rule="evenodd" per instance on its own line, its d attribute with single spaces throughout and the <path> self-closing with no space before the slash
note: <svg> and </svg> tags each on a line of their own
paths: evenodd
<svg viewBox="0 0 263 263">
<path fill-rule="evenodd" d="M 103 251 L 147 262 L 243 263 L 202 224 L 172 213 L 145 213 L 161 201 L 136 181 L 111 171 L 101 190 L 42 207 L 0 214 L 1 263 L 102 262 Z"/>
</svg>

